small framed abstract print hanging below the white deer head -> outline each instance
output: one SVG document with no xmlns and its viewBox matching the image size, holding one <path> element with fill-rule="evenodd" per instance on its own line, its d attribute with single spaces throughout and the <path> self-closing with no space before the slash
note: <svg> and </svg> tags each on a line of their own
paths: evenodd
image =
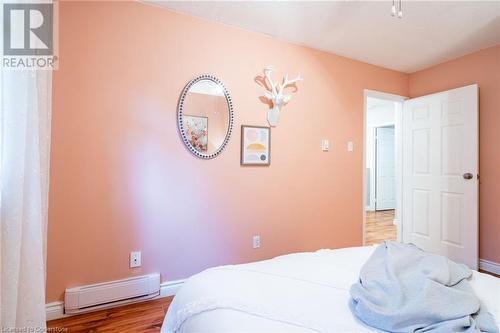
<svg viewBox="0 0 500 333">
<path fill-rule="evenodd" d="M 271 128 L 241 126 L 241 165 L 271 164 Z"/>
</svg>

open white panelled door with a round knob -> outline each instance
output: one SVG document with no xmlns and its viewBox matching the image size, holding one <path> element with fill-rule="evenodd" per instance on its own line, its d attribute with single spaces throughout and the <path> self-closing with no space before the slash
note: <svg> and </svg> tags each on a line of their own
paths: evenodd
<svg viewBox="0 0 500 333">
<path fill-rule="evenodd" d="M 403 106 L 403 242 L 478 264 L 478 87 Z"/>
</svg>

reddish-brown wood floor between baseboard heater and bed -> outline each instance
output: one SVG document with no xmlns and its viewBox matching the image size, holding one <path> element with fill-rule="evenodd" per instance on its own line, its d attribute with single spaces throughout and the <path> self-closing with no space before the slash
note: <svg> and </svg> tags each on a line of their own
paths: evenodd
<svg viewBox="0 0 500 333">
<path fill-rule="evenodd" d="M 125 305 L 47 322 L 47 332 L 159 332 L 173 297 Z"/>
</svg>

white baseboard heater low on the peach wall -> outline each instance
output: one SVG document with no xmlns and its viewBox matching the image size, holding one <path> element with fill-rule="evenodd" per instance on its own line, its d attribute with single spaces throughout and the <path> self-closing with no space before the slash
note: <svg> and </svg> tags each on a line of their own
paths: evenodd
<svg viewBox="0 0 500 333">
<path fill-rule="evenodd" d="M 156 297 L 160 294 L 160 274 L 136 276 L 66 289 L 64 312 L 77 314 Z"/>
</svg>

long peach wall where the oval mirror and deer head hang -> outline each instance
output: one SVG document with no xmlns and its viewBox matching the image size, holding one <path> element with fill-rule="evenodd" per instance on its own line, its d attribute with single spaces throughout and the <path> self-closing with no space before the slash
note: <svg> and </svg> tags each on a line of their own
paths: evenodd
<svg viewBox="0 0 500 333">
<path fill-rule="evenodd" d="M 407 95 L 408 75 L 137 2 L 59 9 L 47 301 L 131 275 L 175 280 L 361 245 L 363 89 Z M 241 167 L 240 125 L 266 125 L 254 78 L 269 64 L 305 80 L 272 130 L 272 165 Z M 209 161 L 187 151 L 176 125 L 184 85 L 206 72 L 235 106 L 229 145 Z M 131 250 L 142 251 L 140 269 L 128 268 Z"/>
</svg>

